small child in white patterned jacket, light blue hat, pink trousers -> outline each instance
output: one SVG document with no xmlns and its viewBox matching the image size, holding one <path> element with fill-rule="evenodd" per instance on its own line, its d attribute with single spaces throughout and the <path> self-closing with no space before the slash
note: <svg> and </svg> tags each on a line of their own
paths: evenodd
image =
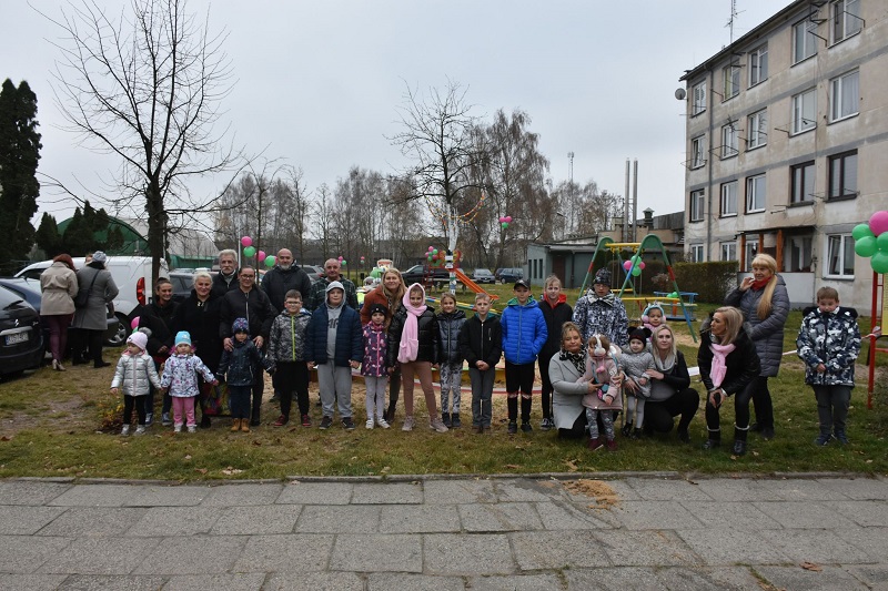
<svg viewBox="0 0 888 591">
<path fill-rule="evenodd" d="M 182 418 L 188 420 L 188 432 L 195 432 L 198 424 L 194 420 L 194 400 L 201 393 L 198 384 L 198 374 L 213 386 L 219 386 L 219 380 L 210 368 L 203 365 L 200 357 L 191 350 L 191 335 L 186 330 L 175 334 L 175 350 L 163 366 L 161 386 L 167 389 L 173 401 L 173 431 L 182 432 Z"/>
</svg>

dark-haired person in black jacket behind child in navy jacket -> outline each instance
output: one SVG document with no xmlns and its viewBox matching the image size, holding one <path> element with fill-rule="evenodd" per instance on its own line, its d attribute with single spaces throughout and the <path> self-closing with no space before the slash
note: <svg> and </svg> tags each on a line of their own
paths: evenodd
<svg viewBox="0 0 888 591">
<path fill-rule="evenodd" d="M 238 289 L 228 292 L 222 299 L 222 310 L 219 325 L 219 336 L 223 339 L 223 346 L 232 350 L 232 337 L 234 336 L 231 325 L 235 318 L 246 318 L 250 325 L 250 336 L 260 349 L 264 348 L 271 332 L 271 323 L 278 312 L 271 305 L 265 292 L 255 286 L 256 272 L 251 266 L 241 268 L 238 275 Z M 262 407 L 262 393 L 265 391 L 265 381 L 261 377 L 253 386 L 253 411 L 250 425 L 258 427 L 260 424 L 260 409 Z"/>
</svg>

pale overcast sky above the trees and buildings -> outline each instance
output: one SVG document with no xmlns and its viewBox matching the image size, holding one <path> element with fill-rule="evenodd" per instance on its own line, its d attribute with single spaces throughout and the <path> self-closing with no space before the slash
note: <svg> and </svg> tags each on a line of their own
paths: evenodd
<svg viewBox="0 0 888 591">
<path fill-rule="evenodd" d="M 59 3 L 31 0 L 49 14 Z M 95 0 L 114 13 L 129 2 Z M 734 39 L 788 4 L 737 0 Z M 521 109 L 554 184 L 594 180 L 623 194 L 638 160 L 638 212 L 684 208 L 685 103 L 678 79 L 730 41 L 730 0 L 191 0 L 229 32 L 236 79 L 223 110 L 248 152 L 304 171 L 310 190 L 359 165 L 395 173 L 405 162 L 386 135 L 398 128 L 405 83 L 425 92 L 447 78 L 467 89 L 473 114 Z M 38 95 L 40 171 L 101 191 L 117 162 L 75 145 L 60 129 L 50 72 L 61 32 L 26 0 L 2 0 L 0 79 Z M 223 177 L 195 183 L 210 194 Z M 85 192 L 84 192 L 85 193 Z M 43 191 L 58 220 L 72 205 Z M 39 221 L 39 215 L 36 220 Z"/>
</svg>

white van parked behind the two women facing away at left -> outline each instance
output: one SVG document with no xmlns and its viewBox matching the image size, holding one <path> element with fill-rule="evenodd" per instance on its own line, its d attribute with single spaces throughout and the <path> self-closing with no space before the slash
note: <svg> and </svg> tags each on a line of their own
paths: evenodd
<svg viewBox="0 0 888 591">
<path fill-rule="evenodd" d="M 74 267 L 83 268 L 82 256 L 73 258 Z M 41 261 L 28 265 L 16 274 L 16 277 L 27 277 L 39 279 L 52 261 Z M 110 339 L 109 345 L 122 345 L 130 334 L 130 319 L 133 310 L 139 306 L 150 303 L 154 294 L 154 285 L 151 281 L 151 257 L 150 256 L 109 256 L 105 268 L 111 272 L 114 284 L 120 293 L 114 298 L 114 313 L 120 320 L 120 329 L 114 339 Z M 170 271 L 167 261 L 160 259 L 160 276 L 169 277 Z"/>
</svg>

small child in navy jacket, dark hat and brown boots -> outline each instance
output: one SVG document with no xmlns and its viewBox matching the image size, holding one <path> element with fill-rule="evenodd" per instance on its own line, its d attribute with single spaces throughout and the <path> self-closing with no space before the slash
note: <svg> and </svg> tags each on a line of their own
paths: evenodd
<svg viewBox="0 0 888 591">
<path fill-rule="evenodd" d="M 229 405 L 231 406 L 232 431 L 250 432 L 250 393 L 258 379 L 262 379 L 260 367 L 272 370 L 272 361 L 262 356 L 255 343 L 250 339 L 250 323 L 246 318 L 235 318 L 231 323 L 234 334 L 233 348 L 222 351 L 219 374 L 229 384 Z"/>
</svg>

